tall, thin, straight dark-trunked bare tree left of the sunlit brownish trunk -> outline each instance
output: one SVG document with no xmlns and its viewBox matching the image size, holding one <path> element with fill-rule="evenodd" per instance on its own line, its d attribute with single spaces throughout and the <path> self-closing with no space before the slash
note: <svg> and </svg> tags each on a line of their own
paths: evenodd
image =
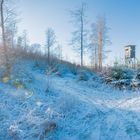
<svg viewBox="0 0 140 140">
<path fill-rule="evenodd" d="M 83 66 L 84 49 L 86 47 L 86 5 L 82 3 L 80 8 L 71 12 L 71 15 L 75 25 L 75 31 L 72 33 L 73 38 L 71 43 L 80 50 L 80 63 L 81 66 Z"/>
</svg>

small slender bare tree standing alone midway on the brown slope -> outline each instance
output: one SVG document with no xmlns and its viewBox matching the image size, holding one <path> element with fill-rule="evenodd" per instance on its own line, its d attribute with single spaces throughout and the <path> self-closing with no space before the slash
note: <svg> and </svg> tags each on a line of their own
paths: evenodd
<svg viewBox="0 0 140 140">
<path fill-rule="evenodd" d="M 47 48 L 47 57 L 48 57 L 48 64 L 50 64 L 50 49 L 56 43 L 56 36 L 55 32 L 52 28 L 48 28 L 46 31 L 46 48 Z"/>
</svg>

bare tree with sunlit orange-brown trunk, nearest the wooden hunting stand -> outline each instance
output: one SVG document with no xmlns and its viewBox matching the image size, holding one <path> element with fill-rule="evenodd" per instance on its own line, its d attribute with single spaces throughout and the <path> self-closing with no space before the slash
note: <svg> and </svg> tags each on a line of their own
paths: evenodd
<svg viewBox="0 0 140 140">
<path fill-rule="evenodd" d="M 110 43 L 108 39 L 108 27 L 104 17 L 98 17 L 95 24 L 92 25 L 92 46 L 94 47 L 95 65 L 102 70 L 105 46 Z"/>
</svg>

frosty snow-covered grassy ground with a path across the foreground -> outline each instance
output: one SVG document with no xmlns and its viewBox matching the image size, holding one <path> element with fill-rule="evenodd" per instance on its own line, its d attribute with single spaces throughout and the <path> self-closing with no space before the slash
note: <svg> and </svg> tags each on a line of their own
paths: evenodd
<svg viewBox="0 0 140 140">
<path fill-rule="evenodd" d="M 17 69 L 26 88 L 0 83 L 0 140 L 140 140 L 139 91 Z"/>
</svg>

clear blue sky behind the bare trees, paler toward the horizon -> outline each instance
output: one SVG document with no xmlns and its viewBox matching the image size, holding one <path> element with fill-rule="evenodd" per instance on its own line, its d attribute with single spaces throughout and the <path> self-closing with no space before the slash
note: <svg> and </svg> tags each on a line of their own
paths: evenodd
<svg viewBox="0 0 140 140">
<path fill-rule="evenodd" d="M 110 27 L 109 37 L 112 44 L 106 47 L 112 52 L 106 61 L 110 64 L 116 57 L 123 58 L 124 46 L 137 45 L 137 57 L 140 55 L 140 0 L 83 0 L 87 3 L 88 26 L 95 22 L 98 15 L 105 15 Z M 58 41 L 63 45 L 64 56 L 72 54 L 68 43 L 73 26 L 70 23 L 69 10 L 80 5 L 81 0 L 21 0 L 19 31 L 28 30 L 31 43 L 45 42 L 45 30 L 54 28 Z M 70 53 L 71 52 L 71 53 Z M 75 57 L 70 57 L 75 61 Z"/>
</svg>

